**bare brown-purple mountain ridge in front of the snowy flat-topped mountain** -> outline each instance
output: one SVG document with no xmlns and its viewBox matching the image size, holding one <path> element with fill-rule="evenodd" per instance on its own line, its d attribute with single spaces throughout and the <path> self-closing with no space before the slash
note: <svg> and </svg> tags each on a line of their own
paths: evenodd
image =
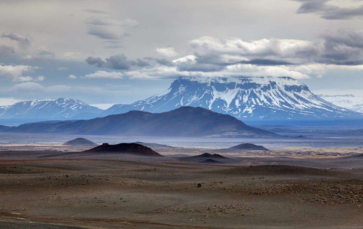
<svg viewBox="0 0 363 229">
<path fill-rule="evenodd" d="M 91 120 L 24 124 L 6 130 L 22 133 L 68 133 L 174 137 L 281 137 L 228 115 L 200 107 L 180 107 L 164 113 L 130 111 Z"/>
</svg>

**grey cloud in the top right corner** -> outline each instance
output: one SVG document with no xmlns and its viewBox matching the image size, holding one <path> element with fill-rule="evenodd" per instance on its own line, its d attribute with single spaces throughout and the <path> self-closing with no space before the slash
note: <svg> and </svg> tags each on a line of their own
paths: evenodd
<svg viewBox="0 0 363 229">
<path fill-rule="evenodd" d="M 327 20 L 347 20 L 363 16 L 363 5 L 339 7 L 328 4 L 331 0 L 295 0 L 301 2 L 297 13 L 314 13 Z"/>
</svg>

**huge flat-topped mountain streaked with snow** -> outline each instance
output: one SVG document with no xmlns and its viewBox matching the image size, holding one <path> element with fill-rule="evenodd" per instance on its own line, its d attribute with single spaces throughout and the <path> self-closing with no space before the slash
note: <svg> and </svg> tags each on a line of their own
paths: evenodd
<svg viewBox="0 0 363 229">
<path fill-rule="evenodd" d="M 176 79 L 166 91 L 132 104 L 116 104 L 100 115 L 131 110 L 166 112 L 203 107 L 242 121 L 362 119 L 363 114 L 333 105 L 290 77 Z"/>
</svg>

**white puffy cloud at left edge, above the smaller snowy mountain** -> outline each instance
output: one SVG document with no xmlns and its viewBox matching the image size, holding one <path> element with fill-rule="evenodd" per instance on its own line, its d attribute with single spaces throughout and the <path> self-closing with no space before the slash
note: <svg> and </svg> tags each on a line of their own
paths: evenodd
<svg viewBox="0 0 363 229">
<path fill-rule="evenodd" d="M 23 76 L 23 73 L 30 72 L 36 67 L 28 65 L 0 65 L 0 78 L 12 81 L 30 81 L 31 76 Z"/>
</svg>

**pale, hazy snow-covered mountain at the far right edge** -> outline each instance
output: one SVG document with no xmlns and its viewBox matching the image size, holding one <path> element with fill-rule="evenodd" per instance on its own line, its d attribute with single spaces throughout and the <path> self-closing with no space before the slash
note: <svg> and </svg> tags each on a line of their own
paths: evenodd
<svg viewBox="0 0 363 229">
<path fill-rule="evenodd" d="M 363 96 L 356 95 L 318 95 L 323 100 L 352 111 L 363 113 Z"/>
</svg>

